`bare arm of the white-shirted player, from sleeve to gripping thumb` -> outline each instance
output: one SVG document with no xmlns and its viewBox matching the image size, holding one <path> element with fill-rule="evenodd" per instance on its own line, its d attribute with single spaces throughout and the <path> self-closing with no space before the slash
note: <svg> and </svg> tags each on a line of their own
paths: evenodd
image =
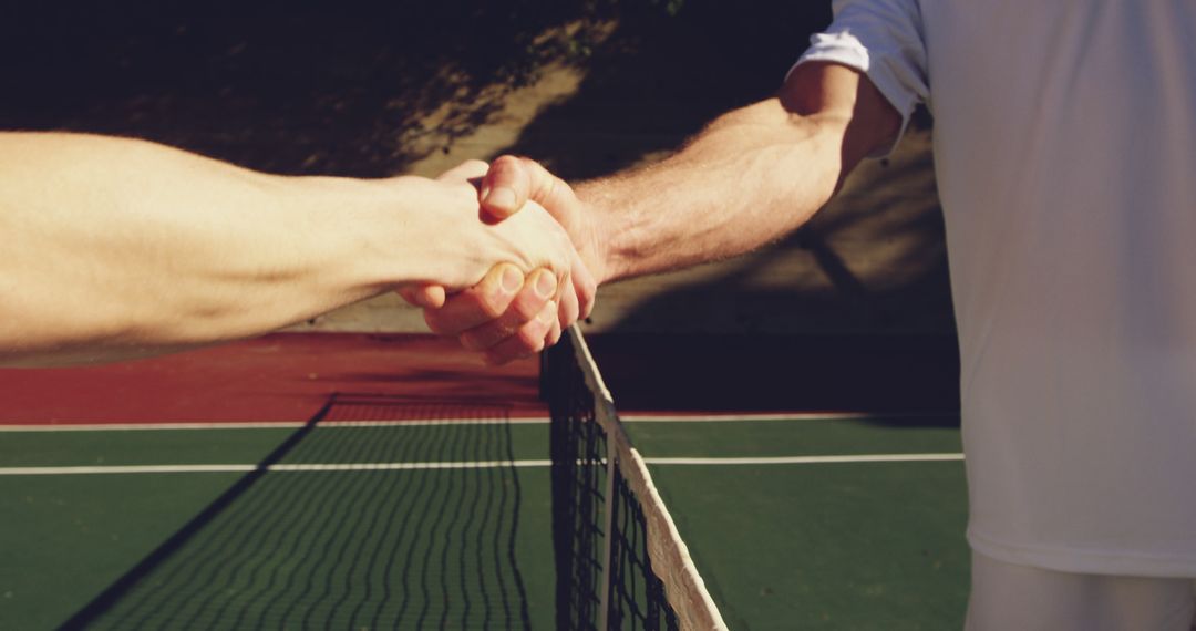
<svg viewBox="0 0 1196 631">
<path fill-rule="evenodd" d="M 500 158 L 483 180 L 482 203 L 500 216 L 526 198 L 543 204 L 598 282 L 652 274 L 739 255 L 792 232 L 899 125 L 897 111 L 860 73 L 806 63 L 776 97 L 719 117 L 643 169 L 574 189 L 531 160 Z M 428 323 L 463 341 L 515 335 L 511 321 L 499 326 L 483 317 L 494 312 L 486 300 L 466 292 L 444 310 L 427 310 Z"/>
</svg>

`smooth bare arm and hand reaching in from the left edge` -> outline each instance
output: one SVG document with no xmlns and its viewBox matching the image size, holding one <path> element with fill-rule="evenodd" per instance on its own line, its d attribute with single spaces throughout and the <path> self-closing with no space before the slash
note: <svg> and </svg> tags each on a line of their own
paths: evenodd
<svg viewBox="0 0 1196 631">
<path fill-rule="evenodd" d="M 281 177 L 136 140 L 0 134 L 0 363 L 257 335 L 402 283 L 468 287 L 500 262 L 565 280 L 572 247 L 542 209 L 478 216 L 464 179 Z"/>
</svg>

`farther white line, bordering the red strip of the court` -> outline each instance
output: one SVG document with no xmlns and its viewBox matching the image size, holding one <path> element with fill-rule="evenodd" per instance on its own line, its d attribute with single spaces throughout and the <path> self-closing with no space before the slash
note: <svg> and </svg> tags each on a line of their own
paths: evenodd
<svg viewBox="0 0 1196 631">
<path fill-rule="evenodd" d="M 956 418 L 954 412 L 793 412 L 793 413 L 749 413 L 749 415 L 652 415 L 652 413 L 628 413 L 620 415 L 624 423 L 733 423 L 752 421 L 869 421 L 885 418 Z M 547 424 L 550 419 L 545 416 L 529 416 L 518 418 L 416 418 L 410 421 L 322 421 L 316 427 L 392 427 L 392 425 L 539 425 Z M 191 430 L 191 429 L 294 429 L 301 428 L 306 423 L 298 421 L 277 422 L 222 422 L 222 423 L 69 423 L 69 424 L 0 424 L 0 433 L 4 431 L 136 431 L 136 430 Z"/>
</svg>

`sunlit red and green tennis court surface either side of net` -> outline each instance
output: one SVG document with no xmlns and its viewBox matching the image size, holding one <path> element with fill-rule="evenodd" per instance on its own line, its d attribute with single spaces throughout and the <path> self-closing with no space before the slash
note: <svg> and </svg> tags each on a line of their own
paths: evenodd
<svg viewBox="0 0 1196 631">
<path fill-rule="evenodd" d="M 535 363 L 398 345 L 271 336 L 59 400 L 5 380 L 0 627 L 556 627 Z M 959 627 L 958 418 L 623 417 L 730 629 Z"/>
</svg>

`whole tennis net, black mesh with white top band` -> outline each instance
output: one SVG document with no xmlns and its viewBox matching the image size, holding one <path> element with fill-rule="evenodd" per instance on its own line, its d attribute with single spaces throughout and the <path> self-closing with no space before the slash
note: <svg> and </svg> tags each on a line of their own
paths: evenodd
<svg viewBox="0 0 1196 631">
<path fill-rule="evenodd" d="M 542 361 L 556 627 L 726 629 L 578 329 Z"/>
</svg>

